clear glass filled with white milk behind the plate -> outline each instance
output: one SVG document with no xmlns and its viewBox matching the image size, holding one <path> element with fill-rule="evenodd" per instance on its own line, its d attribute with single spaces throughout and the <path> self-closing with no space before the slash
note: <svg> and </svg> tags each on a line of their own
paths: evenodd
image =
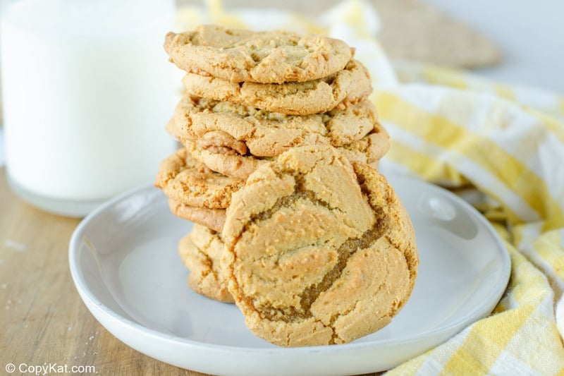
<svg viewBox="0 0 564 376">
<path fill-rule="evenodd" d="M 82 217 L 152 183 L 175 147 L 173 0 L 12 0 L 0 9 L 6 171 L 13 191 Z"/>
</svg>

